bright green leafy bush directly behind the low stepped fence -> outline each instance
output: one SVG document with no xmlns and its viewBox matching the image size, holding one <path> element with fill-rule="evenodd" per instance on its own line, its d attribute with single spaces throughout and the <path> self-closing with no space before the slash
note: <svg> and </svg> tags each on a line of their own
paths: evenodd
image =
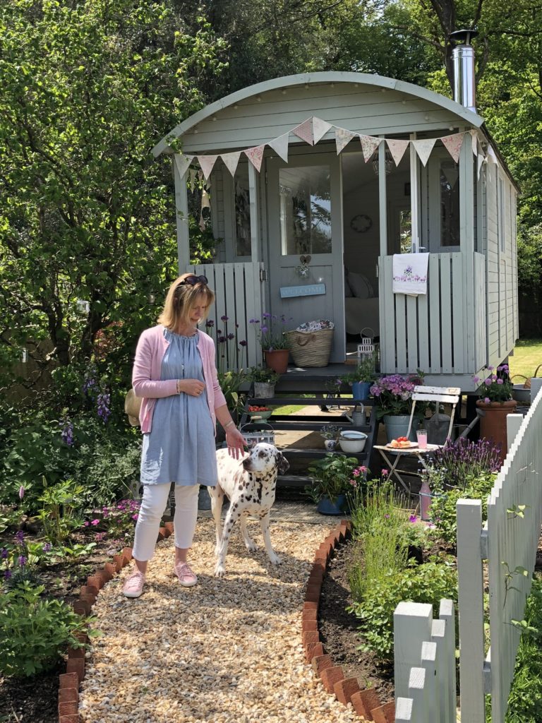
<svg viewBox="0 0 542 723">
<path fill-rule="evenodd" d="M 379 658 L 393 657 L 393 612 L 401 601 L 426 602 L 438 615 L 442 598 L 457 600 L 457 572 L 452 563 L 426 562 L 371 581 L 364 599 L 351 610 L 361 619 L 366 648 Z"/>
</svg>

